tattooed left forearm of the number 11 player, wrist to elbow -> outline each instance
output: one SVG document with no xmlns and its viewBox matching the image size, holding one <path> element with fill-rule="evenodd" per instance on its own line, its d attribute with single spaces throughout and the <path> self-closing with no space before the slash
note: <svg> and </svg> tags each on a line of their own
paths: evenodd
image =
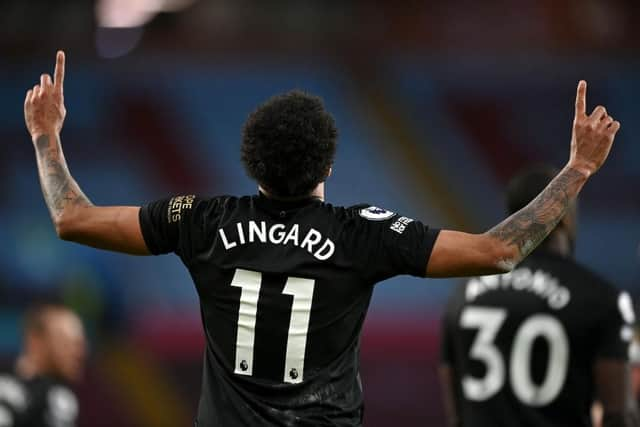
<svg viewBox="0 0 640 427">
<path fill-rule="evenodd" d="M 35 149 L 42 194 L 54 223 L 70 207 L 91 206 L 91 201 L 69 173 L 59 138 L 39 136 L 35 141 Z"/>
</svg>

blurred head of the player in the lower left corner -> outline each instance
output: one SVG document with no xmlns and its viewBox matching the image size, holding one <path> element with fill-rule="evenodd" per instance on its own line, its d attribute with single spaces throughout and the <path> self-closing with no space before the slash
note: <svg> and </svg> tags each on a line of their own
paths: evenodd
<svg viewBox="0 0 640 427">
<path fill-rule="evenodd" d="M 52 375 L 68 382 L 81 379 L 86 339 L 80 318 L 57 304 L 31 307 L 24 318 L 24 349 L 18 369 L 28 376 Z"/>
</svg>

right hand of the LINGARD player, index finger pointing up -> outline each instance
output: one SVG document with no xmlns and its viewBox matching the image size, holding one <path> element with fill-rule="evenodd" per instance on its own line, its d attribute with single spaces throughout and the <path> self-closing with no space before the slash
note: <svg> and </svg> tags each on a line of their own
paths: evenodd
<svg viewBox="0 0 640 427">
<path fill-rule="evenodd" d="M 569 166 L 585 176 L 596 173 L 604 164 L 620 122 L 613 120 L 607 110 L 598 105 L 591 115 L 586 114 L 587 82 L 578 83 L 576 115 L 571 136 Z"/>
</svg>

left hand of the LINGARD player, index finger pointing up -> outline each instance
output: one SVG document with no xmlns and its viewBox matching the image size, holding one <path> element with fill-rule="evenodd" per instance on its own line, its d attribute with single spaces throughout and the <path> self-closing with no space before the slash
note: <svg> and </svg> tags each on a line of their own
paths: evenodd
<svg viewBox="0 0 640 427">
<path fill-rule="evenodd" d="M 58 134 L 62 129 L 64 117 L 64 52 L 58 51 L 56 68 L 51 76 L 40 76 L 40 84 L 27 92 L 24 100 L 24 120 L 33 140 L 41 135 Z"/>
</svg>

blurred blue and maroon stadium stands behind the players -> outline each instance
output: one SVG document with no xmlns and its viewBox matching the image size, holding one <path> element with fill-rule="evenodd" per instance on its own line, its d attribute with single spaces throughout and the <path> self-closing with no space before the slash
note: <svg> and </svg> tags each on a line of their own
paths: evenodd
<svg viewBox="0 0 640 427">
<path fill-rule="evenodd" d="M 484 231 L 521 167 L 568 158 L 575 87 L 622 130 L 580 202 L 577 258 L 640 291 L 640 8 L 609 0 L 3 0 L 0 4 L 0 368 L 34 299 L 83 317 L 81 426 L 191 425 L 203 337 L 175 256 L 59 241 L 23 124 L 26 90 L 67 53 L 62 134 L 97 204 L 253 193 L 240 129 L 269 96 L 322 96 L 340 130 L 327 197 Z M 362 345 L 365 426 L 443 425 L 439 318 L 457 282 L 396 278 Z"/>
</svg>

